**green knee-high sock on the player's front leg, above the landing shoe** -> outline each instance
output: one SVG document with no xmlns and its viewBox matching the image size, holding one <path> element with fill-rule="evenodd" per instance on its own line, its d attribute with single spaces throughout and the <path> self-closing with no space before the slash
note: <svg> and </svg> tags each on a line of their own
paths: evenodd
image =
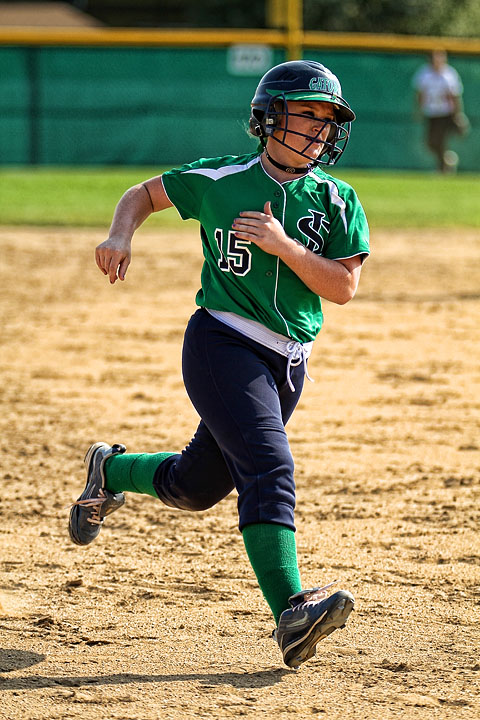
<svg viewBox="0 0 480 720">
<path fill-rule="evenodd" d="M 248 559 L 278 625 L 288 598 L 302 589 L 295 533 L 285 525 L 258 523 L 242 530 Z"/>
</svg>

